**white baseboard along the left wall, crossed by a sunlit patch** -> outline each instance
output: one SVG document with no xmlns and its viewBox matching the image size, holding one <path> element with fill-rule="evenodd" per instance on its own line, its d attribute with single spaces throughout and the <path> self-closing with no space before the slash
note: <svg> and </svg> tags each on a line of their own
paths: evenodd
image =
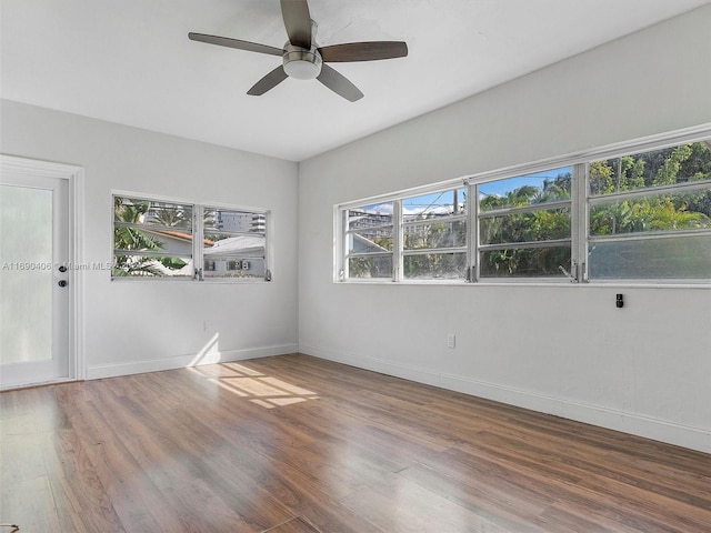
<svg viewBox="0 0 711 533">
<path fill-rule="evenodd" d="M 161 370 L 184 369 L 202 364 L 224 363 L 242 361 L 246 359 L 268 358 L 271 355 L 284 355 L 299 351 L 298 344 L 277 344 L 273 346 L 249 348 L 241 350 L 209 351 L 207 353 L 193 353 L 167 359 L 149 361 L 131 361 L 126 363 L 98 364 L 87 368 L 87 380 L 100 380 L 119 375 L 142 374 L 144 372 L 159 372 Z"/>
</svg>

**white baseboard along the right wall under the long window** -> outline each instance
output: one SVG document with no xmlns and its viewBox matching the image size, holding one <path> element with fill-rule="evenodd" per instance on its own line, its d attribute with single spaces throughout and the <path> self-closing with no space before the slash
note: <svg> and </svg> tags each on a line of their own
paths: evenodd
<svg viewBox="0 0 711 533">
<path fill-rule="evenodd" d="M 574 402 L 497 383 L 489 383 L 468 376 L 395 364 L 377 358 L 365 358 L 356 353 L 337 352 L 310 345 L 300 345 L 299 351 L 307 355 L 313 355 L 351 366 L 372 370 L 374 372 L 462 392 L 518 408 L 530 409 L 563 419 L 711 453 L 711 430 L 708 429 L 677 424 L 638 413 Z"/>
</svg>

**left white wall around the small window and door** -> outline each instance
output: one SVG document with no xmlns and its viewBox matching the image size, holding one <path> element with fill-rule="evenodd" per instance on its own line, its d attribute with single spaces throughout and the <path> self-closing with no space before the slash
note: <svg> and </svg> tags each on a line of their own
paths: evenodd
<svg viewBox="0 0 711 533">
<path fill-rule="evenodd" d="M 222 360 L 298 349 L 296 163 L 16 102 L 1 112 L 0 152 L 84 169 L 87 264 L 112 259 L 112 190 L 273 213 L 271 283 L 126 283 L 82 271 L 87 378 L 182 366 L 209 344 Z"/>
</svg>

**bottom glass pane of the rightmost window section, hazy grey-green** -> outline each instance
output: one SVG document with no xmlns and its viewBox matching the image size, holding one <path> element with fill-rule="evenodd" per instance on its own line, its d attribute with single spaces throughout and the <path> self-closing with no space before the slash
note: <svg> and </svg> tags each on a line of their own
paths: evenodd
<svg viewBox="0 0 711 533">
<path fill-rule="evenodd" d="M 588 272 L 591 280 L 708 280 L 711 235 L 595 242 Z"/>
</svg>

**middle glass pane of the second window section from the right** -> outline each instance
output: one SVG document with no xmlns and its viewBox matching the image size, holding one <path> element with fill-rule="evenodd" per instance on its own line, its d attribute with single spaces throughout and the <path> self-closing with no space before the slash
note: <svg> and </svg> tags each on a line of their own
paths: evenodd
<svg viewBox="0 0 711 533">
<path fill-rule="evenodd" d="M 570 208 L 485 218 L 479 228 L 481 244 L 569 239 Z"/>
</svg>

